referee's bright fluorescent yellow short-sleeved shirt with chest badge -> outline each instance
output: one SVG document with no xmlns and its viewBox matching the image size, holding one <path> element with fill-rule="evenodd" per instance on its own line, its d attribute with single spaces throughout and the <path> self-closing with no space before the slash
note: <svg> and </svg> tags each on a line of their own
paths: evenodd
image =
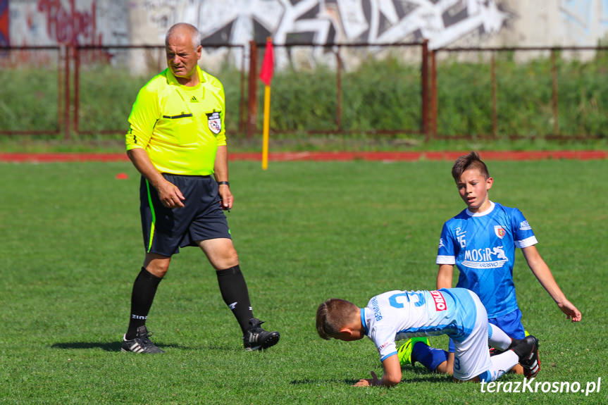
<svg viewBox="0 0 608 405">
<path fill-rule="evenodd" d="M 226 144 L 221 82 L 197 66 L 199 84 L 182 86 L 170 69 L 137 94 L 129 116 L 127 150 L 141 148 L 161 173 L 211 175 Z"/>
</svg>

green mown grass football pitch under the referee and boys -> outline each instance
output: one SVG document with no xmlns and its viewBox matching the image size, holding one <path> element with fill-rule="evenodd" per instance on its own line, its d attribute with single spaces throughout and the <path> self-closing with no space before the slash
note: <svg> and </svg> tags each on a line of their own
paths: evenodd
<svg viewBox="0 0 608 405">
<path fill-rule="evenodd" d="M 373 344 L 316 335 L 324 299 L 364 306 L 389 289 L 433 289 L 442 223 L 463 208 L 451 162 L 271 162 L 266 172 L 231 163 L 232 237 L 254 313 L 281 340 L 244 352 L 212 268 L 188 248 L 148 320 L 162 356 L 120 352 L 143 258 L 135 169 L 3 163 L 0 404 L 606 404 L 608 161 L 488 163 L 490 196 L 523 211 L 583 312 L 581 323 L 566 321 L 518 252 L 523 323 L 541 344 L 538 381 L 584 389 L 602 378 L 600 392 L 484 393 L 421 366 L 390 390 L 354 388 L 381 373 Z M 116 180 L 121 172 L 130 178 Z"/>
</svg>

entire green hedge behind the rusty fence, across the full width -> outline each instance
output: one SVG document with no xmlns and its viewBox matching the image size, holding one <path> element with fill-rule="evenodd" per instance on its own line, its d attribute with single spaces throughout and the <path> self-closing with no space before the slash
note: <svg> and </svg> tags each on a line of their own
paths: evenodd
<svg viewBox="0 0 608 405">
<path fill-rule="evenodd" d="M 557 59 L 559 133 L 606 137 L 608 127 L 607 57 L 588 61 Z M 549 58 L 516 62 L 500 54 L 495 65 L 497 135 L 530 137 L 553 132 L 552 71 Z M 149 78 L 121 75 L 101 66 L 80 75 L 81 130 L 127 130 L 137 90 Z M 228 113 L 226 127 L 239 132 L 241 76 L 225 68 L 222 80 Z M 492 84 L 487 61 L 438 61 L 438 134 L 492 133 Z M 58 120 L 58 82 L 53 70 L 0 70 L 0 130 L 53 130 Z M 340 130 L 356 137 L 375 130 L 419 132 L 421 75 L 416 64 L 370 59 L 342 73 Z M 247 91 L 247 89 L 245 89 Z M 262 127 L 263 84 L 259 82 L 258 127 Z M 243 97 L 247 97 L 244 94 Z M 275 133 L 333 131 L 337 125 L 337 77 L 333 70 L 275 72 L 271 128 Z M 244 103 L 246 106 L 246 103 Z"/>
</svg>

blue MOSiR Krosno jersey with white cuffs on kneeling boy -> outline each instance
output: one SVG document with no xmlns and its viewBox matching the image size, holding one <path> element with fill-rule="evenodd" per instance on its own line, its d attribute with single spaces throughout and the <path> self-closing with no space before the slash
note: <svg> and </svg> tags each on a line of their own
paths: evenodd
<svg viewBox="0 0 608 405">
<path fill-rule="evenodd" d="M 482 213 L 465 209 L 443 225 L 436 263 L 455 264 L 460 272 L 456 286 L 475 292 L 488 317 L 496 318 L 518 309 L 515 248 L 536 243 L 519 209 L 491 202 Z"/>
</svg>

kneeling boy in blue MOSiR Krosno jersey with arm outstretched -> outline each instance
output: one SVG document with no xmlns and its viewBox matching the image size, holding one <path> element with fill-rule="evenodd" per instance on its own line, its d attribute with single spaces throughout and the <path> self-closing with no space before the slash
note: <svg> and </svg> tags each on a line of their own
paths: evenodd
<svg viewBox="0 0 608 405">
<path fill-rule="evenodd" d="M 443 225 L 436 263 L 439 265 L 437 287 L 452 287 L 454 266 L 459 270 L 457 287 L 471 289 L 488 311 L 488 321 L 504 330 L 513 339 L 523 339 L 526 332 L 521 324 L 517 305 L 513 266 L 515 248 L 519 247 L 528 266 L 555 303 L 573 322 L 581 320 L 576 309 L 553 278 L 550 268 L 534 246 L 538 241 L 531 226 L 517 208 L 509 208 L 490 201 L 489 190 L 494 180 L 488 167 L 476 152 L 459 157 L 452 166 L 452 177 L 466 209 Z M 430 356 L 429 349 L 416 343 L 412 359 Z M 453 352 L 450 342 L 449 351 Z M 435 361 L 426 366 L 435 370 L 442 360 L 435 353 Z M 447 368 L 453 354 L 447 355 Z M 540 369 L 517 367 L 516 372 L 531 378 Z"/>
</svg>

